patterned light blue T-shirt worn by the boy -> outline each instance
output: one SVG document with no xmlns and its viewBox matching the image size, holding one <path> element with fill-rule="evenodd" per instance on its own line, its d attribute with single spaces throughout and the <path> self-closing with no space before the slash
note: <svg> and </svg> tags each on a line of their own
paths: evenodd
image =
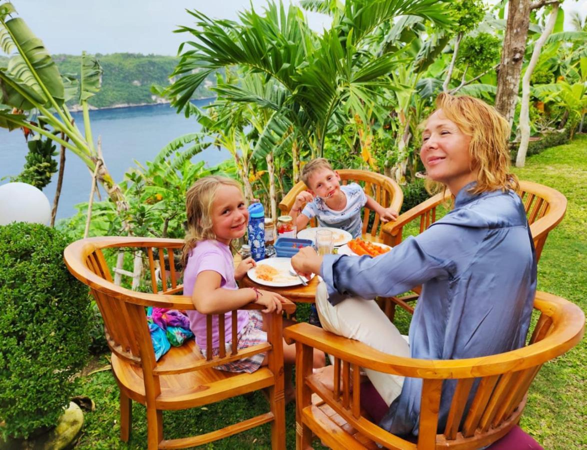
<svg viewBox="0 0 587 450">
<path fill-rule="evenodd" d="M 356 183 L 341 186 L 340 191 L 346 195 L 345 209 L 335 211 L 330 209 L 322 198 L 314 197 L 313 201 L 303 208 L 302 214 L 309 219 L 316 216 L 320 226 L 340 228 L 352 234 L 353 238 L 359 238 L 363 228 L 361 208 L 367 202 L 367 195 Z"/>
</svg>

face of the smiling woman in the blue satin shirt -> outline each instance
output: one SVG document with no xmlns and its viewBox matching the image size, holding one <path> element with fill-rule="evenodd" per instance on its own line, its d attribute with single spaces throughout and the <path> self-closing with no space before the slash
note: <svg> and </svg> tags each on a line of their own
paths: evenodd
<svg viewBox="0 0 587 450">
<path fill-rule="evenodd" d="M 471 136 L 448 120 L 441 109 L 426 121 L 422 140 L 420 158 L 431 180 L 445 184 L 454 195 L 477 180 L 477 170 L 472 168 L 469 153 Z"/>
</svg>

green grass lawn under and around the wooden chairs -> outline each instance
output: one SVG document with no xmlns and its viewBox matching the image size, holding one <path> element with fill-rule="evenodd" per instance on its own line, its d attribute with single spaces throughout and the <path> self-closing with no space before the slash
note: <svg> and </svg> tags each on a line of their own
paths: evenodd
<svg viewBox="0 0 587 450">
<path fill-rule="evenodd" d="M 587 136 L 573 143 L 549 148 L 527 160 L 527 166 L 515 169 L 522 180 L 536 181 L 555 188 L 568 199 L 565 219 L 552 231 L 538 265 L 538 289 L 565 297 L 587 310 L 585 255 L 587 228 Z M 300 315 L 307 313 L 301 308 Z M 400 314 L 400 313 L 399 313 Z M 404 329 L 407 317 L 401 317 Z M 402 320 L 403 319 L 403 320 Z M 106 357 L 93 361 L 96 368 L 106 366 Z M 583 340 L 575 349 L 550 361 L 541 371 L 529 392 L 528 405 L 521 426 L 546 449 L 575 449 L 587 446 L 585 417 L 585 367 L 587 349 Z M 118 389 L 110 371 L 90 372 L 82 378 L 79 395 L 96 403 L 87 412 L 83 434 L 77 448 L 144 448 L 146 442 L 145 410 L 133 404 L 133 427 L 129 444 L 119 440 Z M 268 406 L 259 393 L 244 395 L 206 408 L 164 412 L 167 438 L 208 432 L 235 421 L 265 412 Z M 295 405 L 286 408 L 288 448 L 295 448 Z M 208 444 L 206 448 L 271 448 L 269 426 L 258 427 L 232 438 Z"/>
</svg>

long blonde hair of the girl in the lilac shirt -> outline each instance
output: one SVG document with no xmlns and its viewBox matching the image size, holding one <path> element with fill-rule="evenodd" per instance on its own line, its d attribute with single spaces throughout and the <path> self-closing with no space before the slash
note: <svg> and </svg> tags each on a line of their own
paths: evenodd
<svg viewBox="0 0 587 450">
<path fill-rule="evenodd" d="M 214 204 L 216 191 L 221 185 L 241 189 L 241 185 L 231 178 L 209 175 L 196 181 L 185 194 L 187 231 L 181 252 L 181 265 L 184 269 L 190 252 L 199 241 L 216 239 L 212 231 L 212 204 Z"/>
</svg>

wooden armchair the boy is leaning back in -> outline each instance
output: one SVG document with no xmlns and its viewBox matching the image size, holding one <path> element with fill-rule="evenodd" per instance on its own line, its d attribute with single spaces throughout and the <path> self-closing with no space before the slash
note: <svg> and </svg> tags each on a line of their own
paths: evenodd
<svg viewBox="0 0 587 450">
<path fill-rule="evenodd" d="M 385 208 L 392 207 L 396 211 L 402 209 L 403 203 L 403 192 L 399 184 L 393 181 L 391 178 L 386 177 L 376 172 L 369 172 L 366 170 L 356 169 L 343 169 L 338 170 L 340 175 L 340 181 L 342 185 L 356 182 L 363 186 L 365 194 L 375 198 L 376 201 Z M 294 206 L 295 198 L 298 194 L 308 189 L 303 181 L 298 182 L 291 190 L 285 195 L 284 199 L 279 204 L 279 209 L 282 214 L 289 214 L 292 206 Z M 363 208 L 363 239 L 367 241 L 383 242 L 383 236 L 381 232 L 377 233 L 379 228 L 380 217 L 379 214 L 375 214 L 371 226 L 369 226 L 369 215 L 370 209 Z M 316 221 L 312 219 L 312 226 L 316 226 Z"/>
</svg>

